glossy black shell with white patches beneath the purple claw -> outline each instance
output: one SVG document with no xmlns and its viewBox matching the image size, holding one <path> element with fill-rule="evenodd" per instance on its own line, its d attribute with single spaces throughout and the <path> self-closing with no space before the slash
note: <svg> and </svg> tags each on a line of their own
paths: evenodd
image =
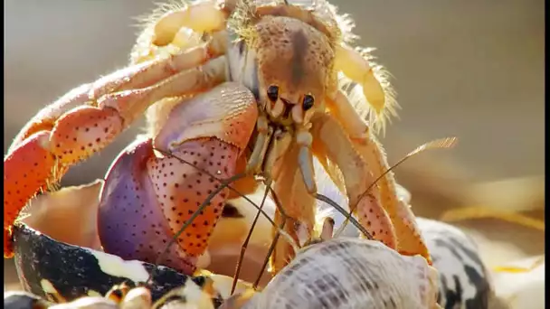
<svg viewBox="0 0 550 309">
<path fill-rule="evenodd" d="M 153 271 L 155 276 L 148 286 L 153 302 L 175 293 L 189 302 L 201 300 L 201 304 L 206 304 L 204 300 L 207 300 L 213 308 L 231 292 L 231 277 L 208 272 L 200 274 L 202 276 L 185 276 L 169 267 L 123 260 L 99 250 L 51 239 L 24 223 L 14 226 L 14 242 L 15 267 L 22 286 L 52 302 L 105 295 L 113 286 L 123 283 L 141 286 Z M 243 292 L 248 288 L 239 282 L 236 290 Z"/>
</svg>

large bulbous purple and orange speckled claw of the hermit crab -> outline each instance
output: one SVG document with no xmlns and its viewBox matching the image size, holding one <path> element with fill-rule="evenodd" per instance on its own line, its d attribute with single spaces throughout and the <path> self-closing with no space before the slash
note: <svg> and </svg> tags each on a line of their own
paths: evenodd
<svg viewBox="0 0 550 309">
<path fill-rule="evenodd" d="M 251 92 L 239 84 L 224 83 L 183 99 L 154 139 L 130 145 L 110 168 L 101 194 L 99 230 L 105 251 L 156 262 L 220 180 L 238 172 L 257 117 Z M 185 274 L 205 266 L 202 262 L 208 260 L 201 257 L 207 257 L 208 239 L 228 193 L 226 188 L 213 197 L 161 264 Z"/>
</svg>

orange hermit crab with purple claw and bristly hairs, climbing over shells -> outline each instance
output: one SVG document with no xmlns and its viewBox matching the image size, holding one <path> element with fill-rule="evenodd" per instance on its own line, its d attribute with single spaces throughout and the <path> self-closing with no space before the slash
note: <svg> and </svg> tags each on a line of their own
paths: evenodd
<svg viewBox="0 0 550 309">
<path fill-rule="evenodd" d="M 156 14 L 128 67 L 71 90 L 14 139 L 4 160 L 5 257 L 25 203 L 147 111 L 147 136 L 119 155 L 101 192 L 106 252 L 152 262 L 186 222 L 160 263 L 192 274 L 207 262 L 227 183 L 253 192 L 259 174 L 280 201 L 277 223 L 311 238 L 315 156 L 374 239 L 430 262 L 393 175 L 371 187 L 387 164 L 365 117 L 384 128 L 397 106 L 384 72 L 350 47 L 350 25 L 324 0 L 201 1 Z M 273 269 L 294 254 L 280 241 Z"/>
</svg>

